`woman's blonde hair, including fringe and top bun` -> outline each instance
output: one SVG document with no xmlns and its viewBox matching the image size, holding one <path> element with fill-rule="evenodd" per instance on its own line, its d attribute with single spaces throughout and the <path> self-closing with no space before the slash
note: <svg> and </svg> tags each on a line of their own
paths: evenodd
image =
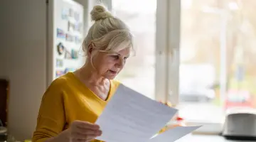
<svg viewBox="0 0 256 142">
<path fill-rule="evenodd" d="M 124 48 L 133 49 L 133 36 L 129 28 L 123 21 L 107 11 L 105 6 L 94 6 L 90 14 L 95 23 L 90 27 L 82 43 L 82 50 L 85 54 L 90 44 L 92 48 L 103 52 L 118 52 Z"/>
</svg>

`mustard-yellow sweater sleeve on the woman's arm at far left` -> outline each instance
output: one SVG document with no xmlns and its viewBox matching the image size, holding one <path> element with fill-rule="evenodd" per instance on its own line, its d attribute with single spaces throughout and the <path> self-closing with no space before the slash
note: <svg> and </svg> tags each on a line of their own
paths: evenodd
<svg viewBox="0 0 256 142">
<path fill-rule="evenodd" d="M 60 87 L 60 80 L 57 79 L 43 94 L 36 131 L 33 133 L 33 142 L 46 141 L 48 138 L 57 136 L 64 129 L 65 109 Z"/>
</svg>

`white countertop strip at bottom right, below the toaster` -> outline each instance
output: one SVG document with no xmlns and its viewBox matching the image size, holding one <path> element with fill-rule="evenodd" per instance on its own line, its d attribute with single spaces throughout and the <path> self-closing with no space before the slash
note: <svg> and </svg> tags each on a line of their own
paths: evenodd
<svg viewBox="0 0 256 142">
<path fill-rule="evenodd" d="M 198 134 L 189 134 L 183 138 L 177 140 L 176 142 L 252 142 L 252 141 L 235 141 L 235 140 L 226 140 L 223 136 L 217 135 L 198 135 Z M 255 142 L 255 141 L 254 141 Z"/>
</svg>

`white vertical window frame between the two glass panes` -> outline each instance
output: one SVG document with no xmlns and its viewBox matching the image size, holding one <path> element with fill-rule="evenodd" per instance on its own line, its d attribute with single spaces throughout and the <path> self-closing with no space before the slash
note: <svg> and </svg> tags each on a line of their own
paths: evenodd
<svg viewBox="0 0 256 142">
<path fill-rule="evenodd" d="M 178 104 L 181 1 L 157 1 L 156 100 Z"/>
</svg>

